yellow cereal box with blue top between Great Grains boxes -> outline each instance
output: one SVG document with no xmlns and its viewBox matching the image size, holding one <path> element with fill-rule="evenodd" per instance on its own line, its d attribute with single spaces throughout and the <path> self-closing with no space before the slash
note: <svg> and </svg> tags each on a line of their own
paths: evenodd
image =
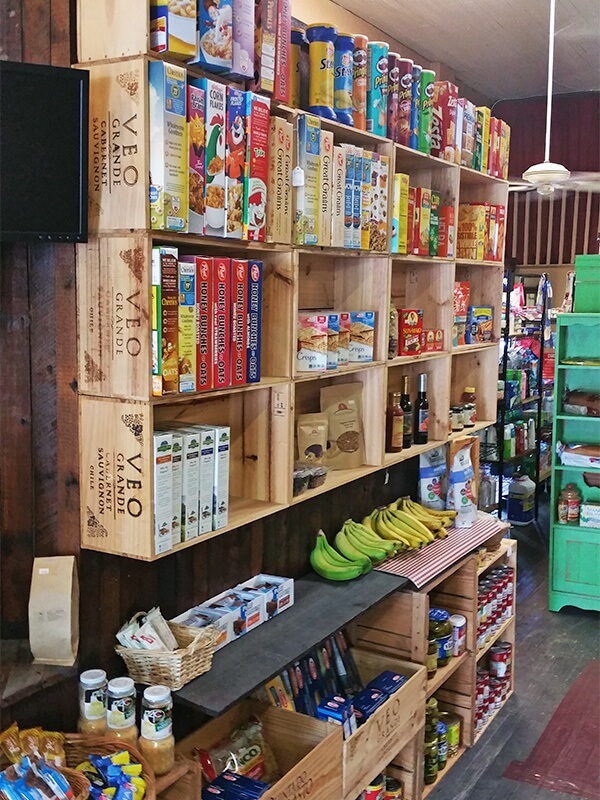
<svg viewBox="0 0 600 800">
<path fill-rule="evenodd" d="M 298 114 L 298 166 L 303 185 L 294 193 L 294 243 L 317 244 L 321 218 L 321 121 L 311 114 Z"/>
</svg>

